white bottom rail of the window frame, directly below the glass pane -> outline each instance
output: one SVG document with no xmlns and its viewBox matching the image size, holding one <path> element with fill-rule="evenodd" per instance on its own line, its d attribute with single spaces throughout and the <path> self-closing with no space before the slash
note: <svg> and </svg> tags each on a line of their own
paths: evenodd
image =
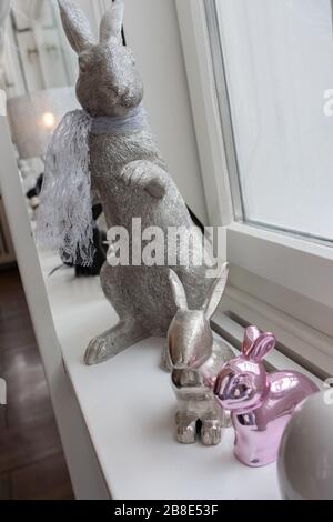
<svg viewBox="0 0 333 522">
<path fill-rule="evenodd" d="M 228 261 L 333 308 L 333 249 L 245 223 L 226 228 Z"/>
</svg>

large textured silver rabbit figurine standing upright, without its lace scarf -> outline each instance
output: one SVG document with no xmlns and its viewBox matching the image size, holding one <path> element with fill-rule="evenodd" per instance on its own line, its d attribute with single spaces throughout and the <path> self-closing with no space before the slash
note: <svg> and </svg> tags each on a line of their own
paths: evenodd
<svg viewBox="0 0 333 522">
<path fill-rule="evenodd" d="M 67 37 L 79 56 L 78 100 L 93 118 L 125 118 L 140 107 L 143 86 L 129 48 L 123 46 L 121 29 L 124 4 L 110 2 L 94 42 L 85 16 L 71 0 L 59 0 Z M 161 100 L 161 103 L 163 100 Z M 168 173 L 167 165 L 148 127 L 135 131 L 90 137 L 91 183 L 103 205 L 107 224 L 124 227 L 130 233 L 130 250 L 138 238 L 131 234 L 133 219 L 141 219 L 142 230 L 159 227 L 167 235 L 172 227 L 193 229 L 186 205 Z M 201 234 L 199 230 L 196 234 Z M 168 251 L 163 267 L 119 265 L 102 269 L 101 283 L 107 299 L 120 318 L 115 328 L 91 341 L 87 364 L 103 362 L 129 345 L 150 335 L 167 337 L 175 314 L 169 284 Z M 184 248 L 184 247 L 183 247 Z M 186 247 L 185 247 L 186 248 Z M 214 280 L 206 279 L 204 263 L 191 261 L 175 270 L 185 288 L 189 305 L 203 305 Z M 168 252 L 168 254 L 167 254 Z M 170 259 L 170 258 L 169 258 Z M 192 258 L 193 259 L 193 258 Z"/>
</svg>

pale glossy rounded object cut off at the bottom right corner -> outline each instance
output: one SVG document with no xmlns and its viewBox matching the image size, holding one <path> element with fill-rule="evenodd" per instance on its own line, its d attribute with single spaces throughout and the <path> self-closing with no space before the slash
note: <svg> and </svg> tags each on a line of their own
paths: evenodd
<svg viewBox="0 0 333 522">
<path fill-rule="evenodd" d="M 285 500 L 333 500 L 332 389 L 315 393 L 287 424 L 278 461 Z"/>
</svg>

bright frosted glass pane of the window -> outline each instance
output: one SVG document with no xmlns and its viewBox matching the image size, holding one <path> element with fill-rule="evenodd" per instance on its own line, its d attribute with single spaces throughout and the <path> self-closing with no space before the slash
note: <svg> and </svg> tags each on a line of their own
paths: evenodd
<svg viewBox="0 0 333 522">
<path fill-rule="evenodd" d="M 216 0 L 209 16 L 222 42 L 244 221 L 333 241 L 331 2 Z"/>
</svg>

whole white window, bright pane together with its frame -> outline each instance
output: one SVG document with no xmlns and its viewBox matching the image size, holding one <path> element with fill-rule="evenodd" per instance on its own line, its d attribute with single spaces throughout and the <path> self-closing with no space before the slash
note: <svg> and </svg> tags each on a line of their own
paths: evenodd
<svg viewBox="0 0 333 522">
<path fill-rule="evenodd" d="M 210 220 L 226 230 L 223 311 L 332 374 L 332 3 L 176 4 Z"/>
</svg>

